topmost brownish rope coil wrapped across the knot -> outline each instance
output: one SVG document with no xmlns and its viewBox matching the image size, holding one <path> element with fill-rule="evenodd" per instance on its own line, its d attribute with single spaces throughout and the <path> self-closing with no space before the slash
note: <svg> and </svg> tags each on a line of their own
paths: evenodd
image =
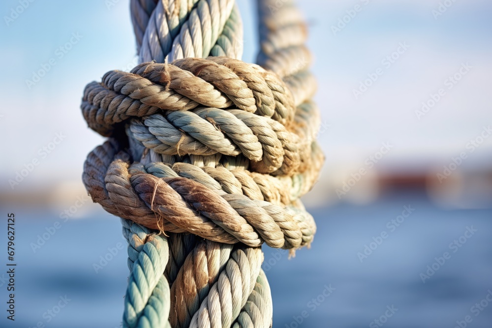
<svg viewBox="0 0 492 328">
<path fill-rule="evenodd" d="M 215 57 L 110 71 L 101 83 L 87 85 L 82 112 L 94 131 L 109 135 L 115 123 L 130 117 L 231 105 L 260 117 L 275 115 L 284 124 L 294 117 L 292 95 L 278 77 L 253 64 Z"/>
</svg>

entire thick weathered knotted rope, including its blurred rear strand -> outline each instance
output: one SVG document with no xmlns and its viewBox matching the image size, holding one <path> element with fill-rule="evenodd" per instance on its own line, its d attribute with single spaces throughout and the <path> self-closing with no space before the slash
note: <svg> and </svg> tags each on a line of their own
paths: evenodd
<svg viewBox="0 0 492 328">
<path fill-rule="evenodd" d="M 234 0 L 130 3 L 141 63 L 81 105 L 109 137 L 83 181 L 122 218 L 123 326 L 271 327 L 260 246 L 293 254 L 316 231 L 299 200 L 324 160 L 306 26 L 290 0 L 258 0 L 256 65 Z"/>
</svg>

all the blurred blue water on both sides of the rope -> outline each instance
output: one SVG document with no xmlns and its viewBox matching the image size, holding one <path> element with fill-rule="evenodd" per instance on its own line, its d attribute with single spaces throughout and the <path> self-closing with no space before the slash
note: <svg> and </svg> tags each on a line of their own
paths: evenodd
<svg viewBox="0 0 492 328">
<path fill-rule="evenodd" d="M 387 227 L 404 206 L 415 210 L 399 227 Z M 12 209 L 2 207 L 3 213 L 7 210 Z M 61 221 L 58 213 L 14 210 L 16 320 L 7 321 L 3 312 L 0 326 L 36 327 L 41 322 L 52 328 L 119 327 L 128 275 L 126 249 L 98 273 L 93 268 L 108 248 L 118 249 L 123 242 L 119 220 L 98 211 L 85 219 L 61 222 L 34 253 L 30 244 Z M 467 327 L 492 327 L 492 304 L 477 316 L 476 310 L 470 310 L 492 290 L 492 210 L 443 211 L 419 195 L 400 194 L 368 206 L 340 204 L 311 212 L 318 225 L 311 249 L 302 249 L 288 260 L 286 251 L 264 247 L 274 327 L 380 327 L 373 320 L 384 316 L 387 306 L 393 306 L 394 314 L 382 318 L 383 327 L 452 328 L 467 315 L 472 320 Z M 5 225 L 0 229 L 3 245 Z M 466 227 L 477 231 L 453 252 L 449 244 L 463 236 Z M 383 231 L 387 238 L 361 263 L 357 253 Z M 420 273 L 444 252 L 450 257 L 423 283 Z M 0 287 L 3 304 L 5 287 Z M 323 292 L 329 296 L 320 296 Z M 43 317 L 65 296 L 70 300 L 55 317 L 47 313 Z"/>
</svg>

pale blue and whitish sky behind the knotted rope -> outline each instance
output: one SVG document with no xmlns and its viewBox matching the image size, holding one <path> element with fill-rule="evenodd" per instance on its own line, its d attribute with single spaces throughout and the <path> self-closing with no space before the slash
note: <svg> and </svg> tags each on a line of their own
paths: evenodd
<svg viewBox="0 0 492 328">
<path fill-rule="evenodd" d="M 18 9 L 24 2 L 26 8 Z M 0 189 L 10 189 L 8 180 L 33 161 L 38 164 L 17 190 L 80 184 L 87 153 L 103 142 L 81 115 L 83 89 L 108 70 L 136 64 L 128 2 L 1 2 Z M 245 25 L 243 60 L 253 62 L 257 23 L 250 2 L 238 1 Z M 298 2 L 309 25 L 318 80 L 325 170 L 357 167 L 383 143 L 392 146 L 381 161 L 388 168 L 446 163 L 487 134 L 490 1 Z M 38 80 L 34 72 L 40 69 L 46 74 Z M 455 75 L 460 80 L 450 82 Z M 432 104 L 432 98 L 438 100 L 423 113 L 422 103 Z M 50 145 L 53 149 L 43 150 Z M 467 164 L 487 166 L 491 150 L 492 138 L 484 138 Z"/>
</svg>

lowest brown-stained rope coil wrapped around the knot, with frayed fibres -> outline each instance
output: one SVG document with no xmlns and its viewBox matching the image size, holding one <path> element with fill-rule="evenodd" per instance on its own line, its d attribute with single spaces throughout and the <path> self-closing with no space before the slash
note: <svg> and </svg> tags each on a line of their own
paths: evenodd
<svg viewBox="0 0 492 328">
<path fill-rule="evenodd" d="M 111 147 L 111 142 L 105 146 Z M 99 152 L 89 155 L 84 168 L 85 180 L 98 179 L 97 175 L 102 178 L 102 162 L 109 160 L 96 157 Z M 110 149 L 109 154 L 117 152 L 118 149 Z M 105 189 L 99 188 L 103 183 L 100 181 L 92 185 L 86 183 L 88 191 L 109 212 L 153 229 L 188 231 L 214 241 L 241 241 L 249 246 L 260 246 L 265 241 L 272 247 L 285 248 L 302 246 L 302 240 L 311 240 L 314 234 L 312 217 L 306 211 L 294 214 L 291 205 L 281 207 L 251 199 L 243 194 L 242 188 L 237 188 L 236 193 L 227 193 L 196 166 L 175 164 L 173 169 L 184 177 L 173 169 L 160 172 L 154 169 L 154 175 L 160 178 L 146 174 L 143 166 L 136 163 L 132 168 L 122 159 L 114 160 L 106 169 Z M 161 165 L 160 168 L 167 167 Z M 263 194 L 260 197 L 264 198 Z M 303 233 L 307 233 L 304 238 Z"/>
</svg>

